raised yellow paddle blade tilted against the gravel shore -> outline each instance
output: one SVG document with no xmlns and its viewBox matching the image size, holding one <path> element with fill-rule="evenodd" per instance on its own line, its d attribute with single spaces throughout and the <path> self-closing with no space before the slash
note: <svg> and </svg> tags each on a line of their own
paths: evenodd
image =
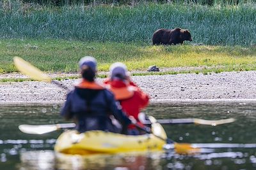
<svg viewBox="0 0 256 170">
<path fill-rule="evenodd" d="M 23 60 L 20 57 L 14 57 L 13 62 L 21 73 L 33 78 L 34 80 L 51 82 L 51 78 L 49 76 L 44 74 L 35 66 L 32 66 L 29 62 L 26 62 L 26 60 Z"/>
</svg>

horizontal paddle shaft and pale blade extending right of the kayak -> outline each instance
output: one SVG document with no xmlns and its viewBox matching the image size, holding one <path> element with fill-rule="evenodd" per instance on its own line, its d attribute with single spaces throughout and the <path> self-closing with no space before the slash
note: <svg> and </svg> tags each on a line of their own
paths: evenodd
<svg viewBox="0 0 256 170">
<path fill-rule="evenodd" d="M 204 120 L 200 118 L 175 118 L 175 119 L 158 119 L 157 123 L 159 124 L 200 124 L 200 125 L 222 125 L 222 124 L 229 124 L 234 122 L 235 118 L 226 118 L 220 120 Z M 146 120 L 143 121 L 143 124 L 149 125 L 151 124 L 150 121 Z"/>
</svg>

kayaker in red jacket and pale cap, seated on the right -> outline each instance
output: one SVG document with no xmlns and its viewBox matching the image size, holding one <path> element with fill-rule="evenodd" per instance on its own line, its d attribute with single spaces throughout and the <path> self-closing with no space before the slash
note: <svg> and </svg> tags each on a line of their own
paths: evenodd
<svg viewBox="0 0 256 170">
<path fill-rule="evenodd" d="M 131 81 L 127 67 L 121 62 L 112 64 L 109 78 L 104 83 L 113 92 L 115 99 L 120 102 L 122 110 L 127 113 L 127 116 L 133 117 L 143 127 L 138 115 L 141 109 L 148 105 L 149 97 Z M 134 125 L 129 125 L 128 134 L 138 135 L 140 131 Z"/>
</svg>

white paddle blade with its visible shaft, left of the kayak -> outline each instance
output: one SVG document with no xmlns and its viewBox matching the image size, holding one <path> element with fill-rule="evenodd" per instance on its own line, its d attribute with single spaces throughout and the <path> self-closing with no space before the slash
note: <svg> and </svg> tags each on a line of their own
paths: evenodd
<svg viewBox="0 0 256 170">
<path fill-rule="evenodd" d="M 74 128 L 76 124 L 52 124 L 52 125 L 19 125 L 20 131 L 26 134 L 46 134 L 58 129 Z"/>
</svg>

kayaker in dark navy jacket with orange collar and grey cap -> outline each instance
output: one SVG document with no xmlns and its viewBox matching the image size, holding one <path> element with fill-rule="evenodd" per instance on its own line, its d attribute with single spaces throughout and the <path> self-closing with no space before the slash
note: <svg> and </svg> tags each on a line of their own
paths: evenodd
<svg viewBox="0 0 256 170">
<path fill-rule="evenodd" d="M 120 132 L 111 123 L 111 115 L 122 125 L 122 133 L 127 132 L 131 120 L 123 113 L 120 103 L 113 93 L 95 80 L 97 62 L 86 56 L 79 61 L 82 79 L 75 83 L 74 90 L 67 94 L 61 116 L 74 120 L 79 132 L 101 130 Z"/>
</svg>

